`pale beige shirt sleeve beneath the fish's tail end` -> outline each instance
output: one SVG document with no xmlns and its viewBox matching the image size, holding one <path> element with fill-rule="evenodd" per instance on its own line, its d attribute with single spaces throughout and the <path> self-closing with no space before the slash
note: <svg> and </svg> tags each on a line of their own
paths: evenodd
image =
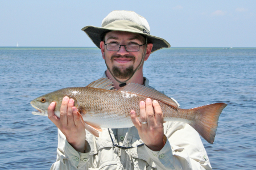
<svg viewBox="0 0 256 170">
<path fill-rule="evenodd" d="M 212 169 L 199 134 L 184 122 L 167 122 L 167 141 L 160 151 L 146 146 L 158 169 Z"/>
</svg>

